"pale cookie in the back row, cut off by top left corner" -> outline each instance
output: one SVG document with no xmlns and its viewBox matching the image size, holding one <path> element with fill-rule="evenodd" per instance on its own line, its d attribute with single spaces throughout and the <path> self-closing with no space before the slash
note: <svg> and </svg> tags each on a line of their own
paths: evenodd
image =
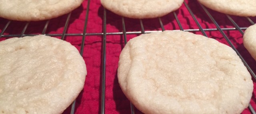
<svg viewBox="0 0 256 114">
<path fill-rule="evenodd" d="M 78 8 L 83 0 L 0 0 L 0 17 L 18 21 L 56 18 Z"/>
</svg>

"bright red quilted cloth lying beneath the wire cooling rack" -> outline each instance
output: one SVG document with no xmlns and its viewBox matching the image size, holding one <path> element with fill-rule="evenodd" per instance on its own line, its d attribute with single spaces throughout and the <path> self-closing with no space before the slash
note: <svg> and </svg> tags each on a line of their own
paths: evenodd
<svg viewBox="0 0 256 114">
<path fill-rule="evenodd" d="M 194 13 L 197 21 L 202 28 L 216 28 L 214 23 L 210 20 L 207 14 L 204 12 L 200 4 L 196 0 L 185 0 L 189 8 Z M 86 33 L 90 34 L 86 36 L 83 58 L 86 62 L 88 74 L 86 76 L 86 82 L 84 90 L 80 93 L 76 100 L 76 114 L 99 114 L 101 111 L 101 76 L 102 76 L 102 38 L 103 35 L 93 35 L 91 33 L 103 32 L 103 7 L 100 4 L 100 0 L 90 0 L 90 8 L 87 7 L 88 0 L 84 0 L 82 6 L 74 10 L 71 14 L 71 18 L 68 24 L 66 33 L 76 34 L 83 33 L 84 22 L 86 18 L 86 11 L 89 10 L 88 25 Z M 210 14 L 214 17 L 216 22 L 221 28 L 234 28 L 234 25 L 228 20 L 226 15 L 209 10 Z M 178 19 L 181 22 L 184 30 L 198 29 L 196 22 L 193 20 L 188 9 L 183 4 L 180 9 L 175 11 Z M 231 16 L 234 21 L 240 27 L 248 27 L 251 24 L 246 18 Z M 60 16 L 50 20 L 46 34 L 57 34 L 57 38 L 60 38 L 58 34 L 62 34 L 67 15 Z M 256 18 L 251 18 L 256 22 Z M 124 18 L 126 32 L 141 31 L 140 21 L 137 19 Z M 161 17 L 162 23 L 166 30 L 180 30 L 177 21 L 172 13 Z M 8 20 L 0 18 L 0 32 L 2 32 L 4 26 Z M 143 19 L 144 29 L 146 31 L 162 30 L 158 18 Z M 25 34 L 41 34 L 46 21 L 30 22 Z M 26 22 L 12 21 L 10 26 L 4 32 L 4 35 L 16 34 L 19 36 L 25 26 Z M 122 32 L 122 18 L 110 11 L 106 11 L 106 31 L 107 32 Z M 208 37 L 214 38 L 224 44 L 228 43 L 218 30 L 205 31 Z M 196 34 L 202 34 L 200 31 L 194 32 Z M 224 30 L 224 33 L 234 44 L 235 48 L 240 52 L 252 70 L 255 72 L 255 60 L 250 56 L 248 51 L 244 48 L 242 43 L 242 34 L 238 30 Z M 127 38 L 133 38 L 139 34 L 127 34 Z M 4 40 L 6 37 L 0 38 Z M 124 47 L 124 37 L 122 34 L 107 35 L 106 40 L 106 96 L 105 96 L 105 113 L 106 114 L 130 114 L 130 102 L 124 96 L 117 80 L 117 68 L 118 57 Z M 79 36 L 66 36 L 64 40 L 70 42 L 76 46 L 78 50 L 81 47 L 82 35 Z M 254 83 L 254 86 L 256 84 Z M 255 104 L 255 92 L 254 89 L 251 104 L 256 108 Z M 70 107 L 64 111 L 64 114 L 70 113 Z M 142 114 L 136 110 L 136 114 Z M 250 114 L 248 109 L 245 109 L 242 114 Z"/>
</svg>

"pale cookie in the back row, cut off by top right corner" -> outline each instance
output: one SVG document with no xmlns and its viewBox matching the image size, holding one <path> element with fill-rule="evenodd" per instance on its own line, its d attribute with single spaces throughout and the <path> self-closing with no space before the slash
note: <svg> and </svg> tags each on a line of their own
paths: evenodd
<svg viewBox="0 0 256 114">
<path fill-rule="evenodd" d="M 235 16 L 256 16 L 256 0 L 198 0 L 204 6 Z"/>
</svg>

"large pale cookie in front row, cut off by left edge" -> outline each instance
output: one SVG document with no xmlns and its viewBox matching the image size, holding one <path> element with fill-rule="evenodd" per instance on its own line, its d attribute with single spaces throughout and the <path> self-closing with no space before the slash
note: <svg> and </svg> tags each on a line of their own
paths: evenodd
<svg viewBox="0 0 256 114">
<path fill-rule="evenodd" d="M 0 42 L 0 113 L 60 114 L 84 87 L 86 65 L 70 43 L 50 36 Z"/>
</svg>

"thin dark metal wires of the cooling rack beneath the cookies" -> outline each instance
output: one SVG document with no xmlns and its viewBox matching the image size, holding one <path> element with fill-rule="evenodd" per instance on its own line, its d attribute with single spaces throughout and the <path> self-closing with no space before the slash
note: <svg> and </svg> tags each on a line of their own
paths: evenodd
<svg viewBox="0 0 256 114">
<path fill-rule="evenodd" d="M 87 2 L 87 9 L 90 9 L 90 0 L 84 1 Z M 200 3 L 198 3 L 200 4 Z M 240 52 L 235 48 L 234 44 L 232 44 L 232 42 L 230 41 L 230 39 L 228 38 L 228 36 L 225 34 L 224 31 L 231 31 L 231 30 L 236 30 L 239 31 L 242 35 L 244 34 L 243 30 L 245 30 L 247 27 L 239 27 L 238 24 L 232 19 L 231 16 L 226 15 L 226 17 L 230 20 L 230 22 L 232 22 L 232 24 L 234 25 L 234 28 L 221 28 L 220 25 L 218 24 L 218 22 L 216 22 L 215 18 L 212 16 L 212 14 L 210 14 L 209 10 L 207 8 L 205 8 L 204 6 L 201 6 L 201 8 L 203 9 L 202 12 L 204 12 L 206 14 L 206 16 L 208 16 L 210 18 L 210 20 L 212 21 L 212 23 L 214 23 L 214 25 L 216 26 L 216 28 L 203 28 L 201 25 L 201 22 L 198 21 L 198 18 L 196 18 L 196 16 L 193 14 L 194 12 L 190 9 L 190 6 L 187 4 L 186 0 L 183 3 L 184 7 L 188 10 L 188 12 L 190 13 L 190 16 L 193 18 L 194 22 L 196 23 L 198 29 L 184 29 L 182 26 L 182 23 L 180 22 L 176 12 L 172 12 L 168 15 L 173 15 L 175 18 L 175 22 L 178 24 L 179 29 L 176 30 L 183 30 L 183 31 L 189 31 L 189 32 L 201 32 L 204 36 L 207 36 L 206 32 L 210 31 L 210 32 L 214 32 L 214 31 L 218 31 L 222 34 L 222 36 L 224 37 L 224 39 L 226 40 L 226 42 L 228 42 L 228 44 L 235 50 L 235 52 L 238 54 L 238 56 L 242 59 L 242 62 L 244 63 L 244 65 L 248 68 L 249 72 L 251 73 L 252 77 L 256 80 L 256 75 L 254 74 L 254 71 L 252 70 L 252 68 L 250 68 L 250 66 L 248 65 L 248 63 L 246 62 L 246 60 L 244 60 L 244 57 L 240 54 Z M 126 24 L 125 24 L 125 19 L 124 17 L 121 17 L 122 19 L 122 23 L 120 23 L 122 25 L 122 31 L 119 32 L 107 32 L 107 12 L 109 12 L 106 9 L 103 9 L 103 23 L 102 23 L 102 32 L 95 32 L 95 33 L 88 33 L 87 32 L 87 28 L 88 28 L 88 17 L 89 17 L 89 12 L 90 10 L 86 10 L 86 17 L 84 20 L 84 28 L 83 28 L 83 32 L 82 33 L 67 33 L 67 29 L 69 26 L 69 21 L 70 21 L 70 16 L 71 13 L 69 13 L 67 15 L 66 18 L 66 23 L 64 25 L 64 30 L 62 31 L 61 34 L 46 34 L 46 30 L 48 29 L 48 25 L 50 20 L 47 20 L 46 23 L 44 24 L 44 28 L 41 32 L 41 34 L 45 34 L 48 36 L 59 36 L 61 37 L 62 40 L 65 39 L 66 36 L 82 36 L 82 41 L 81 41 L 81 48 L 80 48 L 80 54 L 82 56 L 82 54 L 84 53 L 84 43 L 85 43 L 85 39 L 87 38 L 87 36 L 101 36 L 102 37 L 102 57 L 101 57 L 101 103 L 100 103 L 100 113 L 101 114 L 105 114 L 105 89 L 106 89 L 106 45 L 107 45 L 107 36 L 109 35 L 121 35 L 123 36 L 123 40 L 124 40 L 124 44 L 127 43 L 128 38 L 127 35 L 129 34 L 146 34 L 146 33 L 150 33 L 150 32 L 156 32 L 156 31 L 164 31 L 164 30 L 168 30 L 164 27 L 164 24 L 162 22 L 162 18 L 158 18 L 158 22 L 160 24 L 160 28 L 161 30 L 145 30 L 144 29 L 144 24 L 143 24 L 143 20 L 139 20 L 140 22 L 140 27 L 141 30 L 140 31 L 131 31 L 131 32 L 127 32 L 126 31 Z M 248 22 L 250 22 L 251 25 L 254 24 L 254 22 L 251 20 L 251 18 L 246 17 L 246 20 L 248 20 Z M 10 38 L 10 37 L 22 37 L 22 36 L 34 36 L 37 34 L 25 34 L 27 27 L 29 26 L 30 22 L 24 22 L 26 23 L 24 28 L 22 29 L 22 31 L 20 32 L 20 34 L 4 34 L 6 29 L 8 28 L 8 26 L 12 23 L 11 20 L 8 20 L 5 24 L 5 26 L 3 28 L 0 28 L 0 30 L 2 30 L 0 32 L 0 38 Z M 255 101 L 254 101 L 255 102 Z M 72 107 L 71 107 L 71 112 L 70 114 L 74 114 L 75 112 L 75 104 L 76 101 L 74 101 L 72 103 Z M 256 112 L 254 111 L 254 108 L 249 105 L 248 107 L 250 109 L 250 112 L 252 114 L 256 114 Z M 132 114 L 135 114 L 135 108 L 134 106 L 130 103 L 130 112 Z"/>
</svg>

